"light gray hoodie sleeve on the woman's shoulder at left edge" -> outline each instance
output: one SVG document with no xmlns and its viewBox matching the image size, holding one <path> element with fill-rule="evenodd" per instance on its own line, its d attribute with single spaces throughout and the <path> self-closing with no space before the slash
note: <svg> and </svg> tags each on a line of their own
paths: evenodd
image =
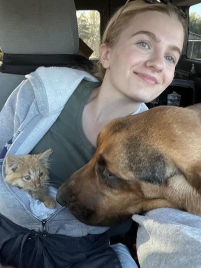
<svg viewBox="0 0 201 268">
<path fill-rule="evenodd" d="M 34 98 L 29 80 L 22 81 L 8 98 L 0 112 L 0 152 L 26 118 Z"/>
</svg>

